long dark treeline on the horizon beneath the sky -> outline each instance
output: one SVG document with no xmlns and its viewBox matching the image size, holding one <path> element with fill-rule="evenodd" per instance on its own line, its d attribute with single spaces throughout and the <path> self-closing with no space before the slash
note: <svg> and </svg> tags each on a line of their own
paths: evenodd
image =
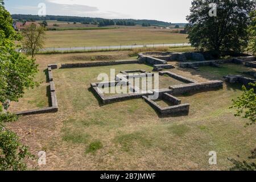
<svg viewBox="0 0 256 182">
<path fill-rule="evenodd" d="M 150 24 L 152 26 L 171 26 L 169 22 L 162 22 L 159 20 L 147 20 L 147 19 L 104 19 L 104 18 L 90 18 L 90 17 L 80 17 L 80 16 L 58 16 L 58 15 L 24 15 L 24 14 L 13 14 L 11 15 L 13 19 L 17 20 L 57 20 L 60 22 L 79 22 L 79 23 L 98 23 L 99 26 L 109 26 L 109 25 L 125 25 L 125 26 L 135 26 L 136 24 Z"/>
</svg>

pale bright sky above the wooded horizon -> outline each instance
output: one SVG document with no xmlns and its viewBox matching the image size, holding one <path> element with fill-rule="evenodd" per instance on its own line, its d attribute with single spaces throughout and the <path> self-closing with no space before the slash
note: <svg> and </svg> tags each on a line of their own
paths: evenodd
<svg viewBox="0 0 256 182">
<path fill-rule="evenodd" d="M 46 5 L 47 15 L 97 18 L 154 19 L 187 23 L 192 0 L 5 0 L 11 14 L 37 15 L 39 3 Z"/>
</svg>

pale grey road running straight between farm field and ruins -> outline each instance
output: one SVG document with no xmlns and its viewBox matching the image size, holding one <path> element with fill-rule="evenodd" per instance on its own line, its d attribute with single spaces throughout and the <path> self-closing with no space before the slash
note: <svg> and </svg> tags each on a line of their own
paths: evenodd
<svg viewBox="0 0 256 182">
<path fill-rule="evenodd" d="M 175 47 L 175 46 L 191 46 L 188 43 L 176 43 L 176 44 L 147 44 L 147 45 L 131 45 L 131 46 L 94 46 L 94 47 L 49 47 L 40 49 L 40 52 L 47 51 L 100 51 L 108 49 L 131 49 L 131 48 L 141 48 L 141 47 Z"/>
</svg>

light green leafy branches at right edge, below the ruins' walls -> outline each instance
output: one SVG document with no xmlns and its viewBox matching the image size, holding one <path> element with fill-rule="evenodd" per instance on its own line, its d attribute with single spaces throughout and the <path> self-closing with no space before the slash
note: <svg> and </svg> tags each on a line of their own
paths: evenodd
<svg viewBox="0 0 256 182">
<path fill-rule="evenodd" d="M 249 123 L 246 126 L 255 124 L 256 121 L 256 94 L 254 88 L 256 83 L 250 84 L 253 88 L 247 89 L 244 85 L 242 86 L 243 93 L 237 100 L 233 101 L 233 106 L 230 108 L 236 108 L 236 117 L 243 115 L 243 118 L 249 119 Z"/>
</svg>

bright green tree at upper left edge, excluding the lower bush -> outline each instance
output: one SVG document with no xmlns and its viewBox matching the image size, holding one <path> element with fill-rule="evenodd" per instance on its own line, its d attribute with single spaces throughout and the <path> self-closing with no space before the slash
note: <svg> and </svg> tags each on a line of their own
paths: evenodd
<svg viewBox="0 0 256 182">
<path fill-rule="evenodd" d="M 15 40 L 22 37 L 13 28 L 13 19 L 0 0 L 0 113 L 8 109 L 10 101 L 18 101 L 24 88 L 33 87 L 38 65 L 16 52 Z"/>
</svg>

